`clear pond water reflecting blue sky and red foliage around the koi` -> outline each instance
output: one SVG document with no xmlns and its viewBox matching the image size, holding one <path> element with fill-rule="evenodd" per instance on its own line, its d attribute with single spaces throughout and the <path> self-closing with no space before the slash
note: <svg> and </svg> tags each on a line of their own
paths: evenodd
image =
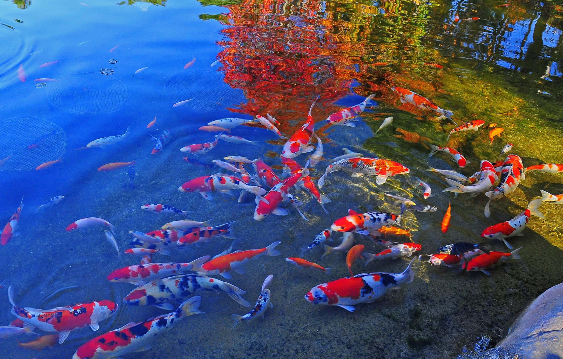
<svg viewBox="0 0 563 359">
<path fill-rule="evenodd" d="M 526 303 L 561 281 L 561 209 L 549 204 L 541 208 L 547 212 L 546 220 L 533 217 L 525 237 L 511 241 L 515 248 L 524 246 L 521 261 L 495 268 L 491 277 L 415 264 L 417 275 L 412 284 L 376 303 L 359 305 L 356 313 L 314 307 L 303 300 L 312 286 L 347 275 L 343 254 L 322 261 L 318 251 L 305 256 L 333 267 L 330 276 L 283 261 L 297 255 L 298 248 L 344 216 L 348 208 L 397 211 L 383 203 L 379 190 L 406 195 L 399 190 L 403 189 L 414 195 L 417 203 L 440 208 L 434 213 L 405 215 L 403 227 L 413 229 L 413 240 L 422 244 L 423 253 L 458 240 L 477 243 L 484 227 L 521 212 L 539 195 L 539 189 L 563 192 L 561 174 L 530 173 L 515 193 L 493 202 L 489 219 L 482 215 L 484 196 L 472 199 L 441 194 L 445 183 L 423 169 L 428 165 L 457 168 L 445 156 L 428 159 L 424 137 L 428 143 L 444 144 L 453 126 L 401 104 L 390 90 L 391 86 L 412 89 L 453 110 L 458 123 L 480 118 L 505 128 L 501 140 L 493 145 L 489 145 L 486 130 L 452 136 L 449 145 L 471 161 L 461 170 L 464 174 L 475 172 L 482 158 L 501 159 L 499 151 L 507 142 L 515 144 L 514 152 L 522 156 L 525 165 L 561 163 L 561 70 L 552 61 L 561 61 L 562 15 L 555 3 L 497 7 L 502 3 L 167 1 L 156 5 L 88 2 L 89 6 L 84 6 L 28 2 L 22 10 L 23 3 L 0 2 L 0 23 L 14 28 L 0 26 L 0 120 L 33 116 L 55 123 L 66 133 L 66 150 L 64 161 L 50 169 L 0 172 L 0 218 L 10 218 L 21 196 L 26 205 L 21 236 L 0 248 L 5 254 L 0 268 L 3 276 L 14 282 L 17 303 L 53 308 L 97 299 L 118 302 L 119 312 L 100 324 L 99 334 L 164 313 L 153 307 L 127 307 L 122 298 L 133 286 L 106 280 L 108 273 L 135 264 L 137 257 L 123 255 L 118 259 L 101 230 L 87 234 L 64 231 L 76 219 L 102 217 L 117 227 L 118 244 L 124 250 L 129 230 L 155 230 L 180 219 L 144 212 L 140 206 L 145 203 L 194 210 L 195 219 L 213 218 L 213 225 L 236 219 L 236 249 L 262 248 L 281 240 L 282 255 L 252 261 L 245 275 L 234 274 L 227 280 L 247 290 L 245 298 L 253 302 L 263 279 L 274 274 L 270 289 L 275 308 L 263 320 L 232 329 L 231 313 L 243 314 L 245 308 L 225 295 L 204 293 L 201 309 L 205 315 L 186 318 L 155 341 L 151 351 L 131 357 L 336 358 L 368 352 L 375 358 L 449 358 L 463 345 L 474 343 L 478 335 L 498 339 L 503 326 Z M 459 23 L 454 21 L 456 13 L 460 19 L 480 19 Z M 194 65 L 183 69 L 194 57 Z M 118 62 L 111 64 L 111 59 Z M 220 63 L 211 67 L 216 60 Z M 59 62 L 39 68 L 52 61 Z M 25 82 L 17 77 L 20 64 L 27 75 Z M 135 74 L 145 66 L 148 68 Z M 111 69 L 113 74 L 103 75 L 101 69 Z M 60 81 L 34 82 L 36 78 Z M 70 78 L 74 82 L 70 83 Z M 121 86 L 108 86 L 110 78 L 123 84 L 125 93 Z M 38 88 L 36 83 L 46 86 Z M 55 91 L 58 88 L 72 91 L 60 95 Z M 185 163 L 181 160 L 185 155 L 178 151 L 190 143 L 211 141 L 212 133 L 197 131 L 207 122 L 225 117 L 251 119 L 269 112 L 282 122 L 280 130 L 291 136 L 318 95 L 320 101 L 312 115 L 321 121 L 341 107 L 358 104 L 370 93 L 377 93 L 378 106 L 368 108 L 358 127 L 316 125 L 325 157 L 340 155 L 344 146 L 399 161 L 412 169 L 412 176 L 376 187 L 372 178 L 330 174 L 322 191 L 332 199 L 328 215 L 316 201 L 294 192 L 305 201 L 301 210 L 309 222 L 296 213 L 255 222 L 252 203 L 239 205 L 229 196 L 209 202 L 177 190 L 191 178 L 217 172 Z M 188 104 L 172 107 L 192 97 Z M 394 122 L 374 137 L 380 120 L 390 115 Z M 157 124 L 149 131 L 146 124 L 155 116 Z M 96 138 L 122 134 L 128 126 L 129 137 L 108 149 L 75 150 Z M 6 128 L 0 128 L 2 143 L 6 138 L 14 138 L 16 143 L 26 131 L 8 133 Z M 157 155 L 150 155 L 154 142 L 148 133 L 156 136 L 165 129 L 179 134 Z M 34 130 L 27 131 L 29 136 Z M 280 169 L 283 140 L 258 128 L 236 128 L 233 133 L 263 142 L 260 146 L 220 142 L 197 159 L 211 163 L 227 155 L 262 157 Z M 409 133 L 422 136 L 422 143 L 405 141 L 419 139 Z M 0 147 L 0 159 L 12 153 L 7 143 Z M 135 189 L 123 188 L 128 181 L 126 168 L 96 171 L 106 163 L 131 160 L 136 160 Z M 305 155 L 297 161 L 303 163 Z M 323 171 L 328 164 L 321 162 L 316 171 Z M 314 176 L 319 176 L 318 172 L 313 172 Z M 435 195 L 423 200 L 421 188 L 413 184 L 414 176 L 430 183 Z M 65 200 L 32 213 L 30 207 L 56 195 L 64 195 Z M 452 224 L 442 234 L 440 222 L 449 200 Z M 370 252 L 381 250 L 369 240 L 359 239 L 359 243 L 367 245 Z M 214 239 L 171 258 L 158 256 L 155 260 L 191 261 L 220 253 L 229 245 L 230 240 Z M 506 249 L 502 243 L 493 243 L 493 248 Z M 400 272 L 406 263 L 385 261 L 370 264 L 367 270 Z M 361 265 L 360 261 L 355 264 L 355 273 L 363 270 Z M 74 285 L 79 287 L 49 297 Z M 6 298 L 0 304 L 4 325 L 13 319 L 9 311 Z M 2 340 L 0 347 L 7 357 L 14 358 L 71 357 L 93 336 L 90 329 L 73 331 L 63 345 L 41 354 L 17 348 L 16 338 Z"/>
</svg>

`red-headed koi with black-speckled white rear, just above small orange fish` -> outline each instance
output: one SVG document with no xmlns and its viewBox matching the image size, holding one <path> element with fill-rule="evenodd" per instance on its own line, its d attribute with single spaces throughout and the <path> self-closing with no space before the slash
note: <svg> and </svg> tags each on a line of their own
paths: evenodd
<svg viewBox="0 0 563 359">
<path fill-rule="evenodd" d="M 386 212 L 357 213 L 354 210 L 348 209 L 348 216 L 334 221 L 330 229 L 335 232 L 356 232 L 358 234 L 370 234 L 379 237 L 381 236 L 379 228 L 401 224 L 401 216 L 404 209 L 405 205 L 403 204 L 401 206 L 401 214 L 399 215 Z"/>
</svg>

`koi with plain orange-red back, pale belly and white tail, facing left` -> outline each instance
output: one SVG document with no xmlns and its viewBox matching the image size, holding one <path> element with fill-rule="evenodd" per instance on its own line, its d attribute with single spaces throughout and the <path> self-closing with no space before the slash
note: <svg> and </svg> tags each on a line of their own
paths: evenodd
<svg viewBox="0 0 563 359">
<path fill-rule="evenodd" d="M 251 259 L 260 257 L 261 255 L 280 255 L 279 250 L 275 249 L 276 245 L 281 241 L 274 242 L 265 248 L 237 250 L 233 253 L 221 255 L 211 259 L 211 261 L 203 264 L 197 272 L 204 275 L 221 275 L 226 279 L 231 279 L 231 270 L 244 274 L 243 264 Z"/>
</svg>

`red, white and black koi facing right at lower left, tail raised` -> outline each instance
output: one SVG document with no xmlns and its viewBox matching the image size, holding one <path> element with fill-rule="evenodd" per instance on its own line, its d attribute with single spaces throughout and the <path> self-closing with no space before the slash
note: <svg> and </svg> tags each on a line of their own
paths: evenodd
<svg viewBox="0 0 563 359">
<path fill-rule="evenodd" d="M 118 305 L 110 300 L 55 309 L 21 308 L 14 303 L 12 286 L 8 288 L 8 300 L 12 304 L 11 313 L 17 318 L 47 333 L 59 333 L 59 344 L 68 338 L 71 330 L 84 326 L 90 326 L 93 331 L 98 330 L 98 323 L 111 317 L 118 308 Z"/>
</svg>

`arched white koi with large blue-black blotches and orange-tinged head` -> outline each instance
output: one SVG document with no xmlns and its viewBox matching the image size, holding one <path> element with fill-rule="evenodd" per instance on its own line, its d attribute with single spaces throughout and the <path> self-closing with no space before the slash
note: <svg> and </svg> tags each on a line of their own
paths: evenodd
<svg viewBox="0 0 563 359">
<path fill-rule="evenodd" d="M 194 295 L 200 290 L 225 292 L 236 303 L 250 307 L 250 303 L 241 295 L 246 291 L 222 280 L 202 276 L 199 274 L 186 274 L 152 281 L 133 289 L 123 298 L 129 306 L 155 306 L 160 309 L 173 310 L 172 302 L 181 302 L 186 297 Z"/>
</svg>

